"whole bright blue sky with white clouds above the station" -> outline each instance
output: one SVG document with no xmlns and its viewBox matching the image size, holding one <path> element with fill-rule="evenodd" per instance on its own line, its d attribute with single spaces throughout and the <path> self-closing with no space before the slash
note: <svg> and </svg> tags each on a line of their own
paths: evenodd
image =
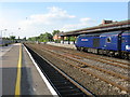
<svg viewBox="0 0 130 97">
<path fill-rule="evenodd" d="M 103 19 L 128 19 L 128 2 L 0 2 L 3 37 L 30 38 L 53 30 L 66 32 L 98 26 Z"/>
</svg>

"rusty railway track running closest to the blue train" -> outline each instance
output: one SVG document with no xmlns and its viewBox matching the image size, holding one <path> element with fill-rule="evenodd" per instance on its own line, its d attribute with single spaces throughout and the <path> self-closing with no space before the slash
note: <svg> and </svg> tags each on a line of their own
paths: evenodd
<svg viewBox="0 0 130 97">
<path fill-rule="evenodd" d="M 78 52 L 73 52 L 73 51 L 67 51 L 66 48 L 61 48 L 60 47 L 54 47 L 54 46 L 47 46 L 48 48 L 52 50 L 52 51 L 62 51 L 62 53 L 64 53 L 64 55 L 66 56 L 70 56 L 70 57 L 74 57 L 74 58 L 77 58 L 77 59 L 91 59 L 91 60 L 95 60 L 95 61 L 100 61 L 101 64 L 104 64 L 105 66 L 114 66 L 114 67 L 119 67 L 120 69 L 125 69 L 127 71 L 127 74 L 128 74 L 128 71 L 130 69 L 129 67 L 129 63 L 121 63 L 121 61 L 117 61 L 115 60 L 115 63 L 113 63 L 114 60 L 110 60 L 110 59 L 107 59 L 107 58 L 104 58 L 101 59 L 100 57 L 94 57 L 94 56 L 90 56 L 90 55 L 87 55 L 87 54 L 81 54 L 81 53 L 78 53 Z M 122 73 L 122 72 L 118 72 L 118 73 Z M 127 75 L 128 77 L 128 75 Z"/>
</svg>

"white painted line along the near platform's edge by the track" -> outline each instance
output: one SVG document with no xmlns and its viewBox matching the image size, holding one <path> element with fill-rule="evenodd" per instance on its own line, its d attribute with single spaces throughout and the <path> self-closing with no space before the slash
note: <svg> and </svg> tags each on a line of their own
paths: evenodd
<svg viewBox="0 0 130 97">
<path fill-rule="evenodd" d="M 25 46 L 24 46 L 25 47 Z M 41 72 L 40 68 L 38 67 L 38 65 L 36 64 L 36 61 L 34 60 L 32 56 L 30 55 L 30 53 L 28 52 L 28 50 L 25 47 L 27 54 L 29 55 L 30 59 L 32 60 L 34 65 L 36 66 L 38 72 L 40 73 L 42 80 L 46 82 L 48 88 L 50 89 L 51 94 L 54 97 L 58 97 L 57 93 L 54 91 L 54 88 L 51 86 L 51 84 L 49 83 L 49 81 L 47 80 L 47 78 L 44 77 L 44 74 Z"/>
</svg>

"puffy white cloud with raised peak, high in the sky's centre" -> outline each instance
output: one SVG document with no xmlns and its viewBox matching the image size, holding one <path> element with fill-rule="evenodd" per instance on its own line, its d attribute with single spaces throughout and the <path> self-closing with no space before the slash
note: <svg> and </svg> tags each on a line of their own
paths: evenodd
<svg viewBox="0 0 130 97">
<path fill-rule="evenodd" d="M 48 8 L 49 12 L 47 14 L 35 14 L 30 15 L 28 19 L 22 22 L 21 24 L 27 25 L 54 25 L 55 23 L 75 18 L 75 15 L 69 15 L 67 11 L 62 10 L 56 6 Z"/>
</svg>

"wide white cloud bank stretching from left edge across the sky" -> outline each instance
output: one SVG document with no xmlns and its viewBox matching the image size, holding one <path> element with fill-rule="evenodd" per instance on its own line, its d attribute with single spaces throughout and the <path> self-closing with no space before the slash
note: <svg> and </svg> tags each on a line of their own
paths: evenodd
<svg viewBox="0 0 130 97">
<path fill-rule="evenodd" d="M 43 32 L 53 30 L 69 31 L 86 28 L 95 25 L 95 20 L 89 17 L 79 18 L 76 15 L 68 14 L 66 10 L 57 6 L 47 8 L 48 12 L 43 14 L 32 14 L 26 19 L 0 19 L 1 29 L 9 29 L 8 34 L 16 37 L 37 37 Z M 18 29 L 21 28 L 21 29 Z"/>
</svg>

